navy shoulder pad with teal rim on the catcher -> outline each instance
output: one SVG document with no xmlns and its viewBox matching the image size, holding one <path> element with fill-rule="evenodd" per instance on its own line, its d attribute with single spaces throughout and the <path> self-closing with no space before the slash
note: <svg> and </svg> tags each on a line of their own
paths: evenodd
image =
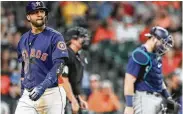
<svg viewBox="0 0 183 114">
<path fill-rule="evenodd" d="M 150 61 L 150 56 L 140 48 L 137 48 L 132 52 L 132 58 L 140 65 L 147 65 Z"/>
</svg>

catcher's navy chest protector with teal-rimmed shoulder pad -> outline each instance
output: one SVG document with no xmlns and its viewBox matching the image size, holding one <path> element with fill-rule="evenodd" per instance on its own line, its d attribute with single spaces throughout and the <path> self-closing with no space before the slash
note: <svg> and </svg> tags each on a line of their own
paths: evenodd
<svg viewBox="0 0 183 114">
<path fill-rule="evenodd" d="M 140 80 L 143 80 L 152 89 L 161 91 L 163 83 L 161 57 L 154 53 L 148 53 L 143 48 L 137 48 L 132 53 L 132 57 L 135 62 L 145 68 L 138 78 L 142 78 Z"/>
</svg>

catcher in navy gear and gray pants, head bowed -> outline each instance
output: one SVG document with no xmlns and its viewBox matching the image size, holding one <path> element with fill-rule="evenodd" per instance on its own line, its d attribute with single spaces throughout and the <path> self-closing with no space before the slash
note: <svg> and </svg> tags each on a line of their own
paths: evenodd
<svg viewBox="0 0 183 114">
<path fill-rule="evenodd" d="M 161 56 L 173 47 L 173 38 L 159 26 L 146 36 L 149 39 L 132 52 L 128 61 L 124 114 L 161 114 L 163 99 L 171 100 L 163 82 Z"/>
</svg>

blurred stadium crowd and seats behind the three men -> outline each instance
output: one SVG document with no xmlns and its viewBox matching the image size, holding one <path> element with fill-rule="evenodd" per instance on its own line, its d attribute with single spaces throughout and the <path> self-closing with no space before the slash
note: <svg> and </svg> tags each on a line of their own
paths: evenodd
<svg viewBox="0 0 183 114">
<path fill-rule="evenodd" d="M 45 2 L 50 10 L 47 25 L 61 32 L 82 26 L 91 33 L 82 83 L 87 113 L 121 113 L 124 109 L 123 80 L 128 56 L 154 25 L 168 29 L 174 48 L 163 57 L 168 90 L 182 103 L 182 2 Z M 16 46 L 30 29 L 27 2 L 1 2 L 1 114 L 14 114 L 20 97 L 20 64 Z M 85 59 L 85 58 L 83 58 Z M 180 112 L 180 114 L 182 114 Z"/>
</svg>

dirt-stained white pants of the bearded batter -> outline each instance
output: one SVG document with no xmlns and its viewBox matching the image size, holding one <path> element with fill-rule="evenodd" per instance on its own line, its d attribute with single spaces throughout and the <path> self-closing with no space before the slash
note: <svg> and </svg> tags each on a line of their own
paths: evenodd
<svg viewBox="0 0 183 114">
<path fill-rule="evenodd" d="M 25 89 L 15 114 L 64 114 L 66 93 L 63 87 L 46 89 L 37 101 L 32 101 L 29 94 Z"/>
</svg>

